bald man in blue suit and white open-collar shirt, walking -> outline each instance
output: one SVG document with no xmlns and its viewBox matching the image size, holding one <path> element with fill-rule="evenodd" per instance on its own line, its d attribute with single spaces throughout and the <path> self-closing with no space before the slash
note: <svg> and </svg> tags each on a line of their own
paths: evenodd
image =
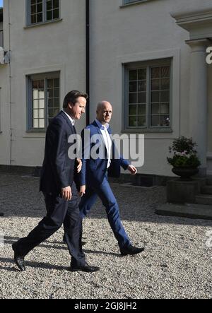
<svg viewBox="0 0 212 313">
<path fill-rule="evenodd" d="M 136 167 L 130 165 L 130 163 L 124 158 L 115 158 L 114 155 L 114 143 L 112 143 L 111 136 L 112 130 L 110 129 L 110 120 L 112 118 L 112 105 L 110 102 L 102 101 L 98 104 L 97 118 L 93 124 L 86 127 L 86 132 L 90 132 L 90 139 L 85 141 L 83 146 L 83 165 L 80 173 L 81 179 L 81 196 L 80 212 L 82 219 L 86 217 L 93 204 L 97 200 L 98 196 L 105 206 L 107 218 L 110 223 L 110 227 L 114 232 L 119 249 L 122 255 L 127 254 L 139 254 L 143 252 L 143 248 L 133 247 L 129 237 L 126 235 L 124 227 L 119 217 L 119 206 L 117 200 L 112 193 L 110 184 L 107 177 L 119 177 L 121 167 L 124 170 L 129 170 L 132 175 L 136 175 Z M 83 134 L 85 134 L 85 131 Z M 84 141 L 83 135 L 83 141 Z M 95 149 L 95 143 L 92 142 L 92 138 L 99 138 L 97 143 L 97 153 L 100 151 L 105 152 L 104 156 L 100 158 L 93 158 L 92 150 Z M 94 140 L 95 141 L 95 140 Z M 88 146 L 89 145 L 89 146 Z M 111 158 L 112 150 L 112 158 Z"/>
</svg>

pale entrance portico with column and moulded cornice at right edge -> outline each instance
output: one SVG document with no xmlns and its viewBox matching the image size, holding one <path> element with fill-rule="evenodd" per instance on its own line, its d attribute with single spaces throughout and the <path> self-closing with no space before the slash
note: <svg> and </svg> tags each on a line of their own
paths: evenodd
<svg viewBox="0 0 212 313">
<path fill-rule="evenodd" d="M 208 119 L 212 111 L 211 90 L 208 88 L 208 74 L 212 71 L 212 66 L 206 63 L 206 49 L 212 47 L 212 7 L 206 11 L 178 12 L 171 15 L 177 25 L 187 30 L 190 36 L 190 40 L 185 42 L 191 48 L 189 136 L 198 144 L 200 174 L 205 176 L 212 174 L 212 136 L 210 118 Z"/>
</svg>

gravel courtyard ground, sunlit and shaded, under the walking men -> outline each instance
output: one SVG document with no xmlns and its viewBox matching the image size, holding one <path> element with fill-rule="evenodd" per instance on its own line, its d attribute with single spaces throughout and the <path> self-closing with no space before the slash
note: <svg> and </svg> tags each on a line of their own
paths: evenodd
<svg viewBox="0 0 212 313">
<path fill-rule="evenodd" d="M 71 273 L 61 242 L 63 231 L 30 252 L 27 271 L 13 265 L 11 244 L 28 235 L 45 215 L 38 179 L 0 175 L 0 298 L 142 299 L 211 298 L 211 251 L 206 245 L 211 221 L 155 215 L 165 203 L 165 188 L 143 189 L 112 184 L 124 226 L 138 256 L 121 257 L 105 211 L 98 202 L 84 222 L 89 264 L 97 273 Z"/>
</svg>

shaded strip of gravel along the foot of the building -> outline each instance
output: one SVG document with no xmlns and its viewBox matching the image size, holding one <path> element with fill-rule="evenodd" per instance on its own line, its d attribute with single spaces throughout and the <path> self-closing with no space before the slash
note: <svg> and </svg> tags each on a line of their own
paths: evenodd
<svg viewBox="0 0 212 313">
<path fill-rule="evenodd" d="M 155 215 L 155 208 L 166 202 L 164 187 L 143 189 L 112 184 L 112 189 L 120 206 L 122 220 L 179 225 L 212 225 L 212 221 L 208 220 Z M 42 193 L 38 193 L 38 190 L 39 179 L 37 178 L 0 175 L 0 212 L 4 213 L 3 218 L 13 216 L 43 218 L 46 213 L 45 202 Z M 100 201 L 95 204 L 88 218 L 107 218 Z"/>
</svg>

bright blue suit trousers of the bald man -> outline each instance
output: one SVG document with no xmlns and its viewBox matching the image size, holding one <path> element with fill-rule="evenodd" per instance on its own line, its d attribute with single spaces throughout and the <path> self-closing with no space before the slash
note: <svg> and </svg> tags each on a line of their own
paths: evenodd
<svg viewBox="0 0 212 313">
<path fill-rule="evenodd" d="M 90 212 L 90 209 L 96 202 L 98 196 L 101 199 L 103 206 L 105 206 L 107 219 L 114 233 L 114 237 L 116 237 L 119 243 L 119 247 L 122 248 L 129 246 L 131 241 L 126 235 L 124 226 L 120 220 L 119 206 L 108 182 L 107 174 L 105 175 L 105 178 L 100 186 L 91 187 L 87 185 L 86 194 L 83 196 L 79 205 L 81 218 L 85 218 L 86 215 Z"/>
</svg>

